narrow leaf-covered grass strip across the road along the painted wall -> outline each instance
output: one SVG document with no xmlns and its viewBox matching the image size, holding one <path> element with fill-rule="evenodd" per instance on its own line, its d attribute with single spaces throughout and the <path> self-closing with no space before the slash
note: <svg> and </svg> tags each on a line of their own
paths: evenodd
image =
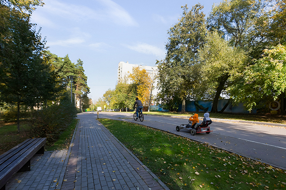
<svg viewBox="0 0 286 190">
<path fill-rule="evenodd" d="M 133 112 L 123 112 L 133 113 Z M 192 116 L 194 113 L 179 113 L 179 112 L 163 112 L 163 111 L 150 111 L 143 112 L 143 114 L 162 115 L 162 116 Z M 204 117 L 204 113 L 197 113 L 198 117 Z M 270 122 L 270 123 L 281 123 L 286 124 L 286 115 L 236 115 L 236 114 L 222 114 L 222 113 L 210 113 L 210 118 L 218 119 L 234 119 L 234 120 L 246 120 L 246 121 L 259 121 L 259 122 Z"/>
</svg>

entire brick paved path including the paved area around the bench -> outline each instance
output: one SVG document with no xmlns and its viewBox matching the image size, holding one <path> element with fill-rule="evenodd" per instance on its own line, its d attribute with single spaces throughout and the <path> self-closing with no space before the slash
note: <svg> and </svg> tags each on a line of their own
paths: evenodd
<svg viewBox="0 0 286 190">
<path fill-rule="evenodd" d="M 17 173 L 6 190 L 169 190 L 95 116 L 78 114 L 69 150 L 34 156 L 31 171 Z"/>
</svg>

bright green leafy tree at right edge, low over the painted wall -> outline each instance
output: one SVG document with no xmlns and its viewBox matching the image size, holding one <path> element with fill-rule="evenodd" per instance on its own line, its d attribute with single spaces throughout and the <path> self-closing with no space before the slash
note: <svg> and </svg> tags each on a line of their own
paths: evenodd
<svg viewBox="0 0 286 190">
<path fill-rule="evenodd" d="M 235 102 L 243 102 L 249 111 L 264 106 L 266 100 L 281 97 L 283 114 L 285 89 L 286 46 L 279 44 L 269 50 L 265 49 L 263 57 L 243 72 L 243 80 L 229 90 L 232 91 Z"/>
</svg>

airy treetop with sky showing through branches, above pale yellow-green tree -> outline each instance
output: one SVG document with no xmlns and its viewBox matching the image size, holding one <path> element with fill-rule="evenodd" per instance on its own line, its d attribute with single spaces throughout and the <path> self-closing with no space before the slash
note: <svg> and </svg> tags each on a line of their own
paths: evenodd
<svg viewBox="0 0 286 190">
<path fill-rule="evenodd" d="M 212 7 L 208 28 L 220 30 L 232 46 L 247 49 L 251 44 L 247 44 L 247 37 L 259 18 L 261 6 L 260 0 L 223 0 Z"/>
</svg>

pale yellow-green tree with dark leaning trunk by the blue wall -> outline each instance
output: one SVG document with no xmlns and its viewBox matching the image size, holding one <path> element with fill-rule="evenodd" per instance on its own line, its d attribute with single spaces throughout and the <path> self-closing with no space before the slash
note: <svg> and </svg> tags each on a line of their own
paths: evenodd
<svg viewBox="0 0 286 190">
<path fill-rule="evenodd" d="M 199 52 L 202 83 L 196 90 L 203 93 L 201 97 L 208 95 L 213 99 L 211 112 L 218 112 L 217 105 L 223 90 L 239 78 L 247 57 L 239 48 L 229 46 L 217 32 L 208 32 L 206 43 Z M 228 95 L 227 91 L 225 95 Z"/>
</svg>

